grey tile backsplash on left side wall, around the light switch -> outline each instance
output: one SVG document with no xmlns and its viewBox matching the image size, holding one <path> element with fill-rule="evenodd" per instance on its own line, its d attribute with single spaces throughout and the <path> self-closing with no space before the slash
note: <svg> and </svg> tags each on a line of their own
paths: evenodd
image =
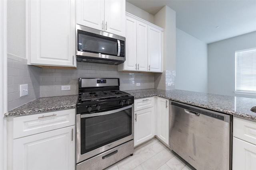
<svg viewBox="0 0 256 170">
<path fill-rule="evenodd" d="M 27 60 L 8 55 L 7 98 L 8 110 L 40 97 L 41 68 L 27 65 Z M 28 84 L 28 95 L 20 97 L 20 84 Z"/>
</svg>

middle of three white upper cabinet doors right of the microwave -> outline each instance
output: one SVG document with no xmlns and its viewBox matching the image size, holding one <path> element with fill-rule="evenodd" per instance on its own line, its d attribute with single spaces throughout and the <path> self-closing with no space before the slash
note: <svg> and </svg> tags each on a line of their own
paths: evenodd
<svg viewBox="0 0 256 170">
<path fill-rule="evenodd" d="M 137 64 L 139 71 L 148 70 L 148 25 L 137 21 Z"/>
</svg>

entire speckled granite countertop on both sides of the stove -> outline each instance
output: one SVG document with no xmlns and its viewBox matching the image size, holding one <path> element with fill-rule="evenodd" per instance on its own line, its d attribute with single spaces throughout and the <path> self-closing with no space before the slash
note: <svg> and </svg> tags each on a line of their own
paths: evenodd
<svg viewBox="0 0 256 170">
<path fill-rule="evenodd" d="M 125 92 L 130 93 L 135 99 L 158 96 L 256 121 L 256 113 L 250 111 L 253 106 L 256 106 L 256 99 L 252 98 L 223 96 L 185 90 L 144 89 L 128 90 Z M 78 95 L 38 98 L 8 111 L 4 114 L 4 117 L 76 108 L 77 97 Z"/>
</svg>

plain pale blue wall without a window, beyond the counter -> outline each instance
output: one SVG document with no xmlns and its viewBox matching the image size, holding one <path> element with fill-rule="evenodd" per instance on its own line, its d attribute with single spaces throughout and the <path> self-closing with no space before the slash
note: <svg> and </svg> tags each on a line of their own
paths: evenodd
<svg viewBox="0 0 256 170">
<path fill-rule="evenodd" d="M 178 28 L 176 89 L 207 92 L 207 44 Z"/>
</svg>

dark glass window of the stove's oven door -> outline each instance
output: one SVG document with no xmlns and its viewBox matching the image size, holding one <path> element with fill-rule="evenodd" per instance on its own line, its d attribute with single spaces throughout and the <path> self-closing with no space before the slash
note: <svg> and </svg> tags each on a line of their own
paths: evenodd
<svg viewBox="0 0 256 170">
<path fill-rule="evenodd" d="M 132 108 L 81 118 L 81 154 L 132 135 Z"/>
</svg>

